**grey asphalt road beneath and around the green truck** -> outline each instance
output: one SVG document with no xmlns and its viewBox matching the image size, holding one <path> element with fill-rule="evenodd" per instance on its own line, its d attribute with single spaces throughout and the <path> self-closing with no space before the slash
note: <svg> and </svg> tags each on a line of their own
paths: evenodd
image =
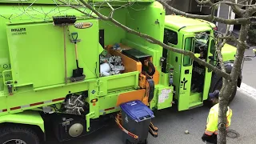
<svg viewBox="0 0 256 144">
<path fill-rule="evenodd" d="M 246 54 L 252 54 L 252 50 L 246 50 Z M 248 59 L 243 68 L 243 82 L 248 86 L 256 89 L 256 78 L 252 77 L 256 74 L 256 58 Z M 256 98 L 249 97 L 238 90 L 234 101 L 230 104 L 233 110 L 233 118 L 227 143 L 238 144 L 254 144 L 256 142 Z M 177 112 L 173 108 L 159 110 L 155 113 L 156 118 L 153 119 L 154 125 L 158 126 L 158 138 L 153 138 L 149 134 L 149 144 L 200 144 L 203 134 L 206 118 L 209 108 L 206 106 L 198 107 L 193 110 Z M 184 131 L 189 130 L 190 134 Z M 237 137 L 237 138 L 235 138 Z M 88 136 L 72 140 L 70 142 L 62 142 L 62 144 L 122 144 L 122 133 L 115 124 L 110 125 L 102 130 L 90 134 Z M 61 144 L 56 140 L 50 140 L 47 144 Z"/>
</svg>

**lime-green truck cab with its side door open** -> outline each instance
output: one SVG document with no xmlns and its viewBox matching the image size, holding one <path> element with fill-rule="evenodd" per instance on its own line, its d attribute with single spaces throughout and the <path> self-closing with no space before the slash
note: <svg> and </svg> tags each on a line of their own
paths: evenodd
<svg viewBox="0 0 256 144">
<path fill-rule="evenodd" d="M 166 15 L 164 43 L 178 49 L 192 51 L 203 61 L 218 66 L 214 30 L 216 26 L 212 22 L 179 15 Z M 170 73 L 170 70 L 173 70 L 174 98 L 178 100 L 178 110 L 202 106 L 210 92 L 221 89 L 222 78 L 212 70 L 193 61 L 189 56 L 165 49 L 162 53 L 165 59 L 162 72 Z M 234 62 L 235 53 L 234 46 L 229 44 L 223 46 L 222 55 L 226 66 Z M 228 69 L 227 72 L 230 72 L 230 67 Z M 241 82 L 242 77 L 239 78 L 238 82 Z M 232 94 L 233 98 L 235 91 Z M 230 98 L 230 101 L 233 98 Z"/>
</svg>

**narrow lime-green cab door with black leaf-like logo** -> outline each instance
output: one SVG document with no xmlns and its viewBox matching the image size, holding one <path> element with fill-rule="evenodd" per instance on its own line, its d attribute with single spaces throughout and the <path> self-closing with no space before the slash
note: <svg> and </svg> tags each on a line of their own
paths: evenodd
<svg viewBox="0 0 256 144">
<path fill-rule="evenodd" d="M 182 50 L 194 52 L 194 34 L 184 34 L 182 40 Z M 193 62 L 189 56 L 182 54 L 180 64 L 180 80 L 178 95 L 178 110 L 190 108 L 190 86 L 192 78 Z"/>
</svg>

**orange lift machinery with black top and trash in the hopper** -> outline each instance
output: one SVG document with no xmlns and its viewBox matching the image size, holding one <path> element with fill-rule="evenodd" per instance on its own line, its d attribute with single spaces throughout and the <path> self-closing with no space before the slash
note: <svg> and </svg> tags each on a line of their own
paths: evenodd
<svg viewBox="0 0 256 144">
<path fill-rule="evenodd" d="M 129 73 L 133 71 L 139 71 L 138 84 L 140 88 L 146 89 L 146 97 L 143 98 L 144 104 L 148 105 L 154 97 L 154 85 L 158 83 L 158 72 L 156 73 L 154 64 L 152 62 L 152 56 L 145 54 L 140 50 L 125 46 L 122 44 L 115 44 L 106 46 L 101 55 L 101 73 L 104 74 L 104 70 L 112 70 L 109 74 Z M 110 59 L 109 61 L 106 59 Z M 112 59 L 115 59 L 114 64 L 110 63 Z M 109 63 L 106 66 L 106 63 Z M 107 69 L 105 69 L 106 67 Z M 114 67 L 114 69 L 112 68 Z M 118 67 L 118 69 L 117 69 Z M 114 70 L 117 70 L 114 71 Z M 106 74 L 106 73 L 105 73 Z"/>
</svg>

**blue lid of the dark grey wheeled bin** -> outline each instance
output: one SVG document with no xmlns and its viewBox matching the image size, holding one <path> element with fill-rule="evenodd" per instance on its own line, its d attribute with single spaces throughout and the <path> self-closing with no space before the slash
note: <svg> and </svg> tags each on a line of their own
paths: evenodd
<svg viewBox="0 0 256 144">
<path fill-rule="evenodd" d="M 122 103 L 120 108 L 135 122 L 142 122 L 148 118 L 154 118 L 153 111 L 138 100 Z"/>
</svg>

